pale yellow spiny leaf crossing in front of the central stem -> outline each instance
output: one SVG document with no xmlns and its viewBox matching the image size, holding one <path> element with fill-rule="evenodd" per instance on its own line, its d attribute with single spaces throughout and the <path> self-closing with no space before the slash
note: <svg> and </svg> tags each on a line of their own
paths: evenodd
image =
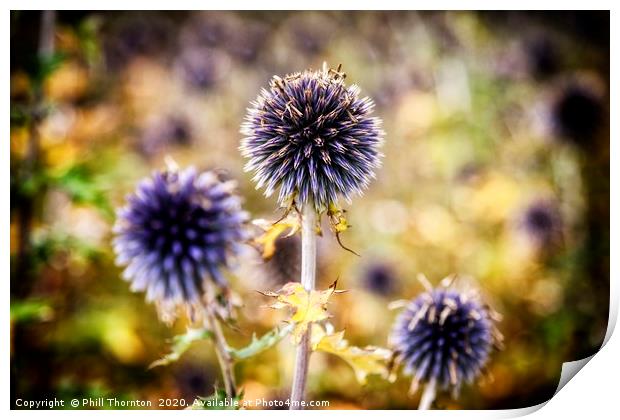
<svg viewBox="0 0 620 420">
<path fill-rule="evenodd" d="M 293 315 L 288 320 L 293 327 L 293 341 L 299 343 L 302 336 L 308 330 L 312 322 L 323 321 L 329 318 L 327 302 L 334 293 L 342 293 L 344 290 L 336 290 L 336 283 L 327 290 L 312 290 L 310 293 L 301 283 L 287 283 L 277 292 L 263 293 L 265 296 L 275 297 L 277 302 L 270 308 L 290 308 Z"/>
</svg>

